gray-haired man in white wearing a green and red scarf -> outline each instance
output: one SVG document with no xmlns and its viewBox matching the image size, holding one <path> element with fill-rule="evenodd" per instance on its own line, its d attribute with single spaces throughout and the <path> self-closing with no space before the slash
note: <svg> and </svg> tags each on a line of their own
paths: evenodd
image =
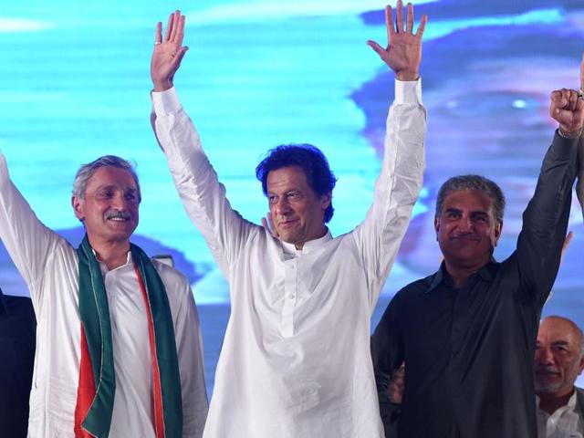
<svg viewBox="0 0 584 438">
<path fill-rule="evenodd" d="M 0 238 L 37 320 L 28 436 L 200 437 L 207 412 L 191 287 L 130 236 L 138 177 L 104 156 L 79 169 L 76 249 L 36 218 L 0 154 Z"/>
</svg>

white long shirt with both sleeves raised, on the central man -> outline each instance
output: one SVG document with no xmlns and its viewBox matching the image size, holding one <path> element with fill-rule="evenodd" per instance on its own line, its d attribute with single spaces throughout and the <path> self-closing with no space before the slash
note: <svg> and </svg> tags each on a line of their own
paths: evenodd
<svg viewBox="0 0 584 438">
<path fill-rule="evenodd" d="M 175 90 L 152 100 L 184 207 L 230 284 L 231 317 L 203 436 L 381 437 L 370 316 L 422 187 L 420 82 L 396 85 L 365 221 L 302 251 L 231 208 Z"/>
</svg>

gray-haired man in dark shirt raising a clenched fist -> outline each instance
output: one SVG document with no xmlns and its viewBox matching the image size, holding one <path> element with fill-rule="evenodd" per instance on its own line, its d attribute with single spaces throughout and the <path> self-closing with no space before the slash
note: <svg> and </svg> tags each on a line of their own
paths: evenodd
<svg viewBox="0 0 584 438">
<path fill-rule="evenodd" d="M 438 193 L 434 228 L 444 261 L 401 289 L 371 339 L 381 417 L 405 360 L 399 436 L 516 438 L 537 435 L 533 357 L 541 308 L 558 273 L 577 173 L 584 101 L 551 95 L 559 128 L 523 215 L 516 251 L 493 258 L 505 198 L 477 175 Z"/>
</svg>

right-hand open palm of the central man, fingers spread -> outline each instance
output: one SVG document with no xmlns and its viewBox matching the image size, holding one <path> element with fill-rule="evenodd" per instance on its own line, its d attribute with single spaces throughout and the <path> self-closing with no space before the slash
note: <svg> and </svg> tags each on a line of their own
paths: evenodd
<svg viewBox="0 0 584 438">
<path fill-rule="evenodd" d="M 408 3 L 408 15 L 406 28 L 403 29 L 403 4 L 401 0 L 397 4 L 397 20 L 393 24 L 391 6 L 385 7 L 385 26 L 387 27 L 387 48 L 381 47 L 375 41 L 367 41 L 367 44 L 375 50 L 395 73 L 399 80 L 416 80 L 420 77 L 420 61 L 422 61 L 422 35 L 426 27 L 428 16 L 422 16 L 418 31 L 413 33 L 413 5 Z"/>
</svg>

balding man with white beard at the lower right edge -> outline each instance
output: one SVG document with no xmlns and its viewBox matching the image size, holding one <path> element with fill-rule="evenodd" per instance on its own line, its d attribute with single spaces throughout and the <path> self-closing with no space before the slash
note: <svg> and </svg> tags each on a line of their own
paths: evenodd
<svg viewBox="0 0 584 438">
<path fill-rule="evenodd" d="M 541 321 L 534 363 L 538 438 L 584 436 L 584 390 L 574 385 L 582 370 L 582 330 L 568 318 Z"/>
</svg>

